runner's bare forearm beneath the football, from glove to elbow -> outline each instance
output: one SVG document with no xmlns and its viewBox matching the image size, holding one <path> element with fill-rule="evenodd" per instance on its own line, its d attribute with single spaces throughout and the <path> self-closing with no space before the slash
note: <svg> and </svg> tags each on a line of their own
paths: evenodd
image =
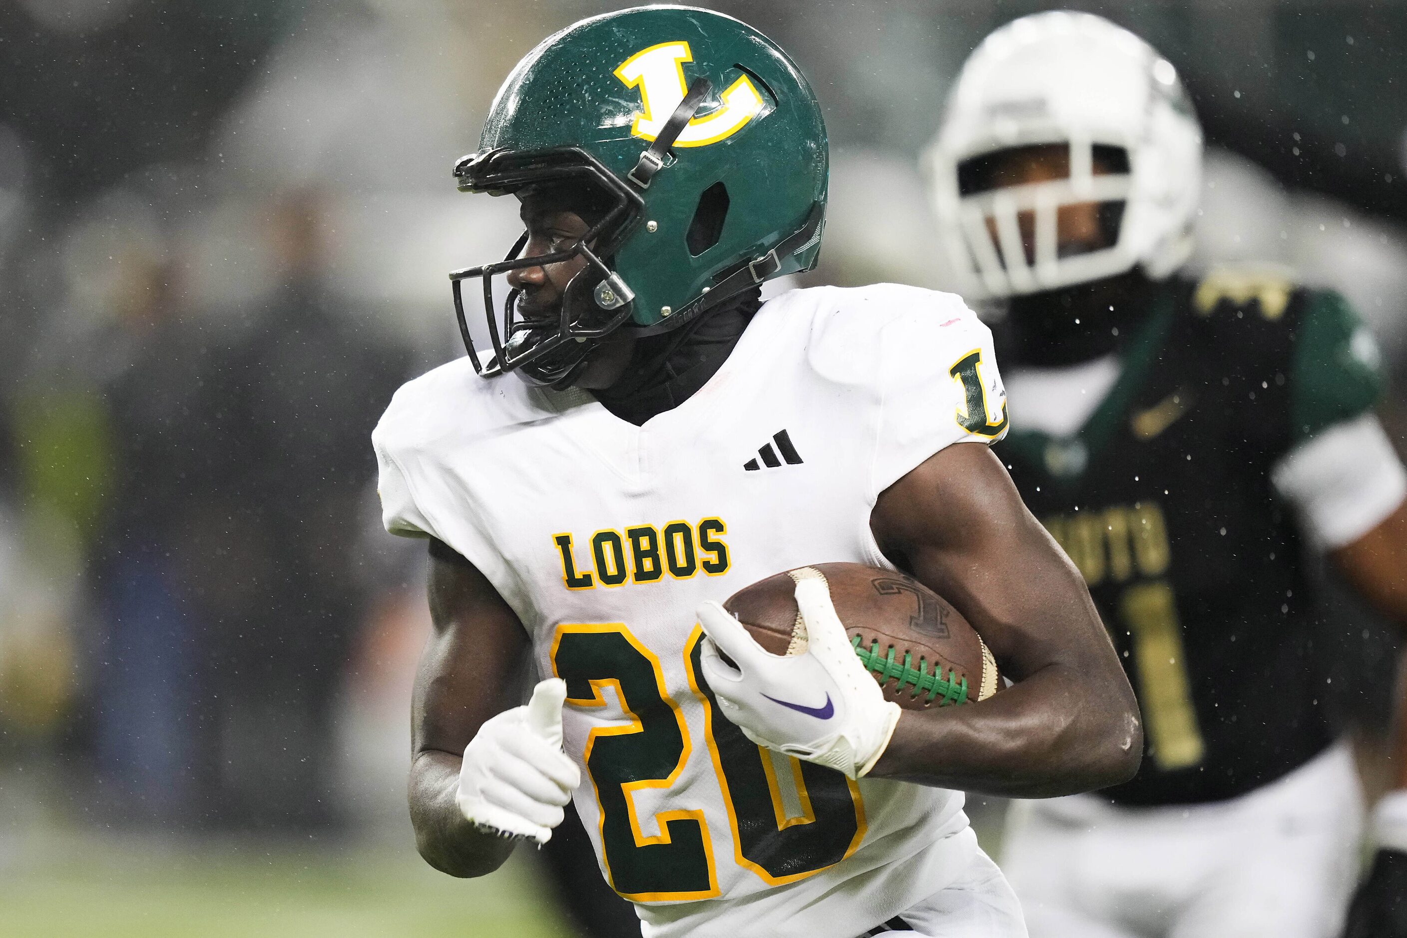
<svg viewBox="0 0 1407 938">
<path fill-rule="evenodd" d="M 871 775 L 1007 797 L 1126 782 L 1142 758 L 1137 705 L 1088 683 L 1051 665 L 978 705 L 905 712 Z"/>
</svg>

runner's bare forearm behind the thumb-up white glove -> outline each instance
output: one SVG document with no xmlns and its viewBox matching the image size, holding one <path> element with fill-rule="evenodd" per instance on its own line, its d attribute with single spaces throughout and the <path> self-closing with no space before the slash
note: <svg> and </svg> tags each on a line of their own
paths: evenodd
<svg viewBox="0 0 1407 938">
<path fill-rule="evenodd" d="M 454 800 L 460 757 L 422 751 L 411 764 L 411 824 L 425 862 L 450 876 L 484 876 L 504 865 L 515 841 L 464 818 Z"/>
</svg>

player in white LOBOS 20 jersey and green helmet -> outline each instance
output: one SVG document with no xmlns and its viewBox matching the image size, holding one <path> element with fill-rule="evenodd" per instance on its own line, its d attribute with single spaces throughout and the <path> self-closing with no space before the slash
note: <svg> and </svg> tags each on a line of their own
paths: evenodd
<svg viewBox="0 0 1407 938">
<path fill-rule="evenodd" d="M 516 195 L 526 233 L 452 274 L 470 354 L 373 437 L 387 529 L 431 539 L 421 854 L 490 873 L 570 797 L 647 937 L 1024 935 L 960 792 L 1127 779 L 1137 707 L 988 449 L 1007 422 L 986 326 L 898 285 L 760 302 L 815 263 L 825 218 L 795 63 L 706 10 L 584 20 L 514 69 L 454 172 Z M 1014 683 L 900 713 L 823 581 L 798 581 L 789 657 L 718 605 L 819 561 L 912 572 Z M 523 664 L 540 681 L 505 709 Z"/>
</svg>

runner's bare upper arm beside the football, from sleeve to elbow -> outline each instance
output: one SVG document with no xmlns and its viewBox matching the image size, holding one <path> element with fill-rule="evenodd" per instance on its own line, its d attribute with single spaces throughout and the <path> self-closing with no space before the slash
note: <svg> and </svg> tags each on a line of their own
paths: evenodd
<svg viewBox="0 0 1407 938">
<path fill-rule="evenodd" d="M 885 553 L 947 598 L 1020 681 L 1051 664 L 1113 664 L 1085 582 L 986 446 L 950 446 L 875 505 Z"/>
</svg>

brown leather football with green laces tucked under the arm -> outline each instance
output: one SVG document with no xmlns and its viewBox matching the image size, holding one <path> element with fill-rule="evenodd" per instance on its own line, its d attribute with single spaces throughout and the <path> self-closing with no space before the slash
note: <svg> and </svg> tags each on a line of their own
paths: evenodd
<svg viewBox="0 0 1407 938">
<path fill-rule="evenodd" d="M 813 564 L 840 622 L 886 700 L 908 710 L 985 700 L 1002 681 L 986 643 L 946 599 L 912 577 L 864 564 Z M 733 613 L 763 648 L 805 648 L 792 571 L 729 596 Z"/>
</svg>

